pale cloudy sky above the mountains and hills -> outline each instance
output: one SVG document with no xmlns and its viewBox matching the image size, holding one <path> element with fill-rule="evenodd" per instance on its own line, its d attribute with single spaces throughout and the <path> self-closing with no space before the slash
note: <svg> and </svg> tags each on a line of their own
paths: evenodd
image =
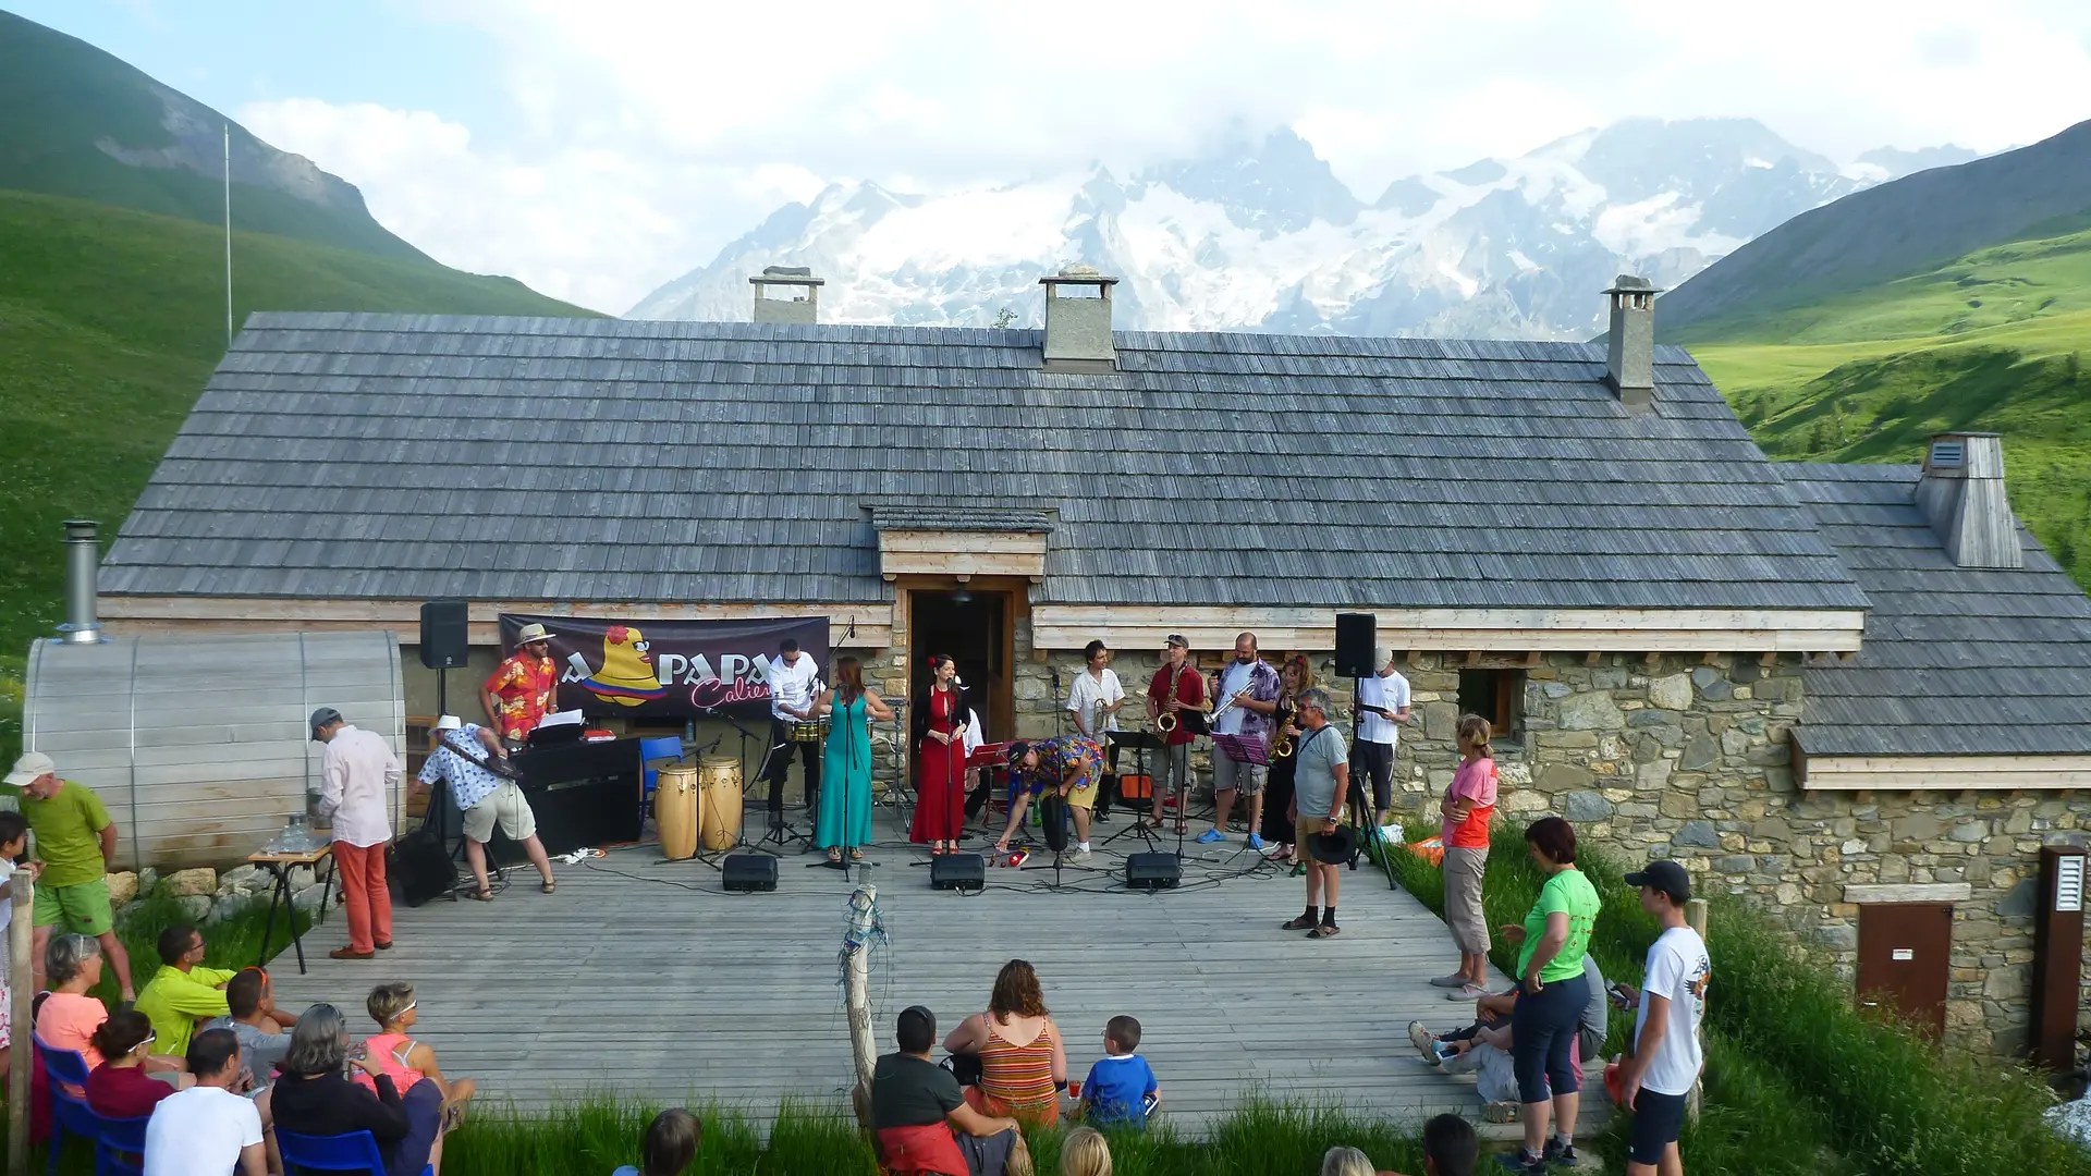
<svg viewBox="0 0 2091 1176">
<path fill-rule="evenodd" d="M 2091 117 L 2083 0 L 0 0 L 364 190 L 439 262 L 623 312 L 830 182 L 1121 176 L 1290 126 L 1361 199 L 1629 115 L 1848 161 Z"/>
</svg>

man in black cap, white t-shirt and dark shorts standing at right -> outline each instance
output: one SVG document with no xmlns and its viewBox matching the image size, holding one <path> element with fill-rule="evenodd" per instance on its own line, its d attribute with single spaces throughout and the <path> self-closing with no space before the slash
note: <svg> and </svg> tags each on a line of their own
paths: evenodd
<svg viewBox="0 0 2091 1176">
<path fill-rule="evenodd" d="M 1698 1027 L 1706 1015 L 1713 960 L 1706 940 L 1685 925 L 1692 877 L 1683 866 L 1650 862 L 1646 870 L 1627 875 L 1627 885 L 1641 887 L 1641 910 L 1662 925 L 1662 935 L 1648 948 L 1641 990 L 1618 986 L 1627 1002 L 1639 1007 L 1633 1053 L 1618 1063 L 1621 1101 L 1633 1107 L 1627 1176 L 1681 1176 L 1677 1132 L 1704 1063 Z"/>
</svg>

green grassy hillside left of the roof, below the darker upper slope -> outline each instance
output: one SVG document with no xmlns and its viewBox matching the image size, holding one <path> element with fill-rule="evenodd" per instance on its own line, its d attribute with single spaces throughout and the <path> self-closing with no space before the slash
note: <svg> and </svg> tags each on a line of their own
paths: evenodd
<svg viewBox="0 0 2091 1176">
<path fill-rule="evenodd" d="M 253 310 L 594 312 L 510 278 L 236 234 Z M 63 519 L 113 538 L 226 349 L 224 234 L 186 220 L 0 190 L 0 751 L 21 659 L 63 613 Z"/>
</svg>

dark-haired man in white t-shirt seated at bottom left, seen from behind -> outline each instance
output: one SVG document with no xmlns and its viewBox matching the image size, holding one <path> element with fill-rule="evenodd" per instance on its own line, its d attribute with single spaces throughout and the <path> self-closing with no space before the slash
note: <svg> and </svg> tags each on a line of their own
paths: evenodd
<svg viewBox="0 0 2091 1176">
<path fill-rule="evenodd" d="M 188 1040 L 197 1084 L 167 1094 L 144 1126 L 144 1176 L 266 1176 L 261 1111 L 236 1092 L 240 1040 L 232 1030 L 203 1030 Z"/>
</svg>

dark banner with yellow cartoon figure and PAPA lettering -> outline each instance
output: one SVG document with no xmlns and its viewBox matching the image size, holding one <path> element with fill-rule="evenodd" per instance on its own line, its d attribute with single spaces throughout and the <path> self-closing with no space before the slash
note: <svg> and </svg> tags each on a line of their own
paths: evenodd
<svg viewBox="0 0 2091 1176">
<path fill-rule="evenodd" d="M 828 617 L 669 621 L 502 613 L 502 653 L 527 624 L 544 626 L 558 665 L 558 709 L 592 716 L 690 718 L 769 714 L 769 659 L 792 638 L 828 676 Z"/>
</svg>

